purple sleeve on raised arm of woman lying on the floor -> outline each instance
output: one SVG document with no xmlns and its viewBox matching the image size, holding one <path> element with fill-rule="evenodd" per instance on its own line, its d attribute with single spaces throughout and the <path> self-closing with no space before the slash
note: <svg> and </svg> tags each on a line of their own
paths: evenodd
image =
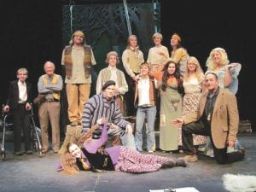
<svg viewBox="0 0 256 192">
<path fill-rule="evenodd" d="M 102 137 L 93 141 L 92 143 L 85 143 L 84 148 L 91 154 L 95 154 L 97 149 L 102 147 L 102 144 L 108 140 L 107 124 L 103 125 L 102 128 Z"/>
</svg>

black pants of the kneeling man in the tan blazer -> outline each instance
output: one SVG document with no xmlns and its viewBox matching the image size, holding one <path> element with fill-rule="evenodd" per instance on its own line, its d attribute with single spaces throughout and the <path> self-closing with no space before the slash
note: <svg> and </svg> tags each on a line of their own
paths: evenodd
<svg viewBox="0 0 256 192">
<path fill-rule="evenodd" d="M 241 151 L 235 151 L 227 154 L 227 148 L 216 148 L 212 141 L 212 133 L 210 125 L 206 121 L 200 119 L 188 125 L 183 125 L 182 127 L 182 137 L 183 137 L 183 148 L 186 151 L 189 151 L 190 154 L 195 154 L 195 148 L 193 145 L 193 136 L 192 134 L 209 136 L 212 142 L 212 148 L 214 152 L 214 159 L 218 164 L 226 164 L 242 160 L 243 154 Z"/>
</svg>

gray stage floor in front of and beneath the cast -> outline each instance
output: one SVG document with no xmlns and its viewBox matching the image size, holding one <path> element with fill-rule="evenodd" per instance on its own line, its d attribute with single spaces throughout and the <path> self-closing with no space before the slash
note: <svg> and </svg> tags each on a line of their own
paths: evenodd
<svg viewBox="0 0 256 192">
<path fill-rule="evenodd" d="M 149 189 L 195 187 L 200 192 L 224 192 L 224 173 L 256 175 L 256 133 L 239 133 L 246 148 L 244 160 L 218 165 L 212 158 L 200 155 L 200 160 L 186 168 L 174 167 L 143 174 L 125 172 L 81 172 L 66 176 L 55 171 L 60 154 L 49 151 L 45 157 L 12 154 L 12 142 L 6 142 L 6 160 L 0 160 L 0 191 L 3 192 L 148 192 Z M 183 154 L 154 154 L 181 157 Z"/>
</svg>

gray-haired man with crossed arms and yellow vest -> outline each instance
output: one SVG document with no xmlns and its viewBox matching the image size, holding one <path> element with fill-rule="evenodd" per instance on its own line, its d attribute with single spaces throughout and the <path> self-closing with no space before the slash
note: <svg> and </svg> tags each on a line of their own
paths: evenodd
<svg viewBox="0 0 256 192">
<path fill-rule="evenodd" d="M 42 135 L 42 153 L 46 154 L 49 149 L 49 122 L 52 130 L 52 148 L 58 153 L 60 148 L 60 110 L 61 90 L 63 81 L 61 75 L 55 74 L 55 64 L 51 61 L 44 63 L 44 72 L 38 79 L 38 93 L 44 95 L 39 103 L 38 116 Z"/>
</svg>

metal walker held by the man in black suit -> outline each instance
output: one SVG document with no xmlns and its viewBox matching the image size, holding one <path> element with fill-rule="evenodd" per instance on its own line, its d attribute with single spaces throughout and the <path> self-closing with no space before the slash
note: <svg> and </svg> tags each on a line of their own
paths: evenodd
<svg viewBox="0 0 256 192">
<path fill-rule="evenodd" d="M 2 106 L 4 108 L 4 105 Z M 39 156 L 42 157 L 42 145 L 41 145 L 41 129 L 36 126 L 34 118 L 33 118 L 33 110 L 31 109 L 30 116 L 30 127 L 31 127 L 31 139 L 32 139 L 32 146 L 35 152 L 38 152 Z M 9 123 L 11 119 L 11 113 L 2 113 L 2 120 L 1 120 L 1 126 L 3 127 L 3 138 L 2 142 L 0 143 L 1 148 L 1 155 L 2 160 L 6 160 L 6 151 L 5 151 L 5 137 L 6 137 L 6 131 L 12 129 L 13 123 Z"/>
</svg>

